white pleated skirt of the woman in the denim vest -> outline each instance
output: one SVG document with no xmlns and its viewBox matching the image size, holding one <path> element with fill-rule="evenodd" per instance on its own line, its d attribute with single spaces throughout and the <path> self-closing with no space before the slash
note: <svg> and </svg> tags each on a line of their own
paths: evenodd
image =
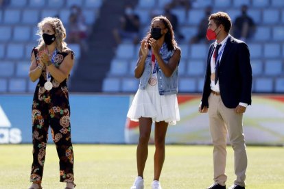
<svg viewBox="0 0 284 189">
<path fill-rule="evenodd" d="M 153 122 L 165 121 L 169 125 L 176 125 L 176 121 L 180 121 L 178 99 L 176 95 L 160 95 L 158 84 L 147 84 L 145 90 L 137 90 L 127 116 L 132 121 L 145 117 L 152 118 Z"/>
</svg>

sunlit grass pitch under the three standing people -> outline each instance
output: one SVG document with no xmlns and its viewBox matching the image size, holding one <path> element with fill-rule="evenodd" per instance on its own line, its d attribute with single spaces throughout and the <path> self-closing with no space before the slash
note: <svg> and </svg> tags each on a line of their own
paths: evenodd
<svg viewBox="0 0 284 189">
<path fill-rule="evenodd" d="M 78 189 L 129 189 L 137 175 L 136 145 L 74 144 L 74 176 Z M 213 183 L 212 146 L 167 145 L 161 175 L 163 189 L 202 189 Z M 235 179 L 233 150 L 227 148 L 227 187 Z M 247 189 L 284 187 L 283 147 L 247 147 Z M 149 146 L 145 189 L 153 178 L 154 146 Z M 0 188 L 29 188 L 32 144 L 0 145 Z M 64 188 L 59 182 L 59 163 L 54 144 L 47 144 L 43 188 Z"/>
</svg>

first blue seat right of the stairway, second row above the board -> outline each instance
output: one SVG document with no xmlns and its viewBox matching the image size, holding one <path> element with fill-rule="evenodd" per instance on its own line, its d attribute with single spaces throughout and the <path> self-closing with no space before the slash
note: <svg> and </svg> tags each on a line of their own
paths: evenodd
<svg viewBox="0 0 284 189">
<path fill-rule="evenodd" d="M 128 61 L 125 59 L 113 59 L 110 62 L 109 75 L 126 75 L 128 73 Z"/>
</svg>

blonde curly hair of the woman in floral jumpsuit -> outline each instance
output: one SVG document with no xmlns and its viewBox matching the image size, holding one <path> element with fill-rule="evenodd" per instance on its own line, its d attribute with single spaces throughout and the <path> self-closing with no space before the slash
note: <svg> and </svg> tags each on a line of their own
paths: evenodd
<svg viewBox="0 0 284 189">
<path fill-rule="evenodd" d="M 46 23 L 50 24 L 54 29 L 56 36 L 56 49 L 60 53 L 62 53 L 67 49 L 67 43 L 64 42 L 66 38 L 66 30 L 62 24 L 62 21 L 60 21 L 59 18 L 55 17 L 43 18 L 43 21 L 40 21 L 40 23 L 38 23 L 38 31 L 36 32 L 36 34 L 40 36 L 40 38 L 38 39 L 38 47 L 36 48 L 38 49 L 38 51 L 45 49 L 45 42 L 43 40 L 43 25 L 45 25 Z"/>
</svg>

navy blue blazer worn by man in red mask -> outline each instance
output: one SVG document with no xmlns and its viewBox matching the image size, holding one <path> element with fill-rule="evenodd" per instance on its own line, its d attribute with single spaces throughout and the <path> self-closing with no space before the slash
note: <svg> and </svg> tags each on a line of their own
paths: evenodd
<svg viewBox="0 0 284 189">
<path fill-rule="evenodd" d="M 209 48 L 201 108 L 209 107 L 211 66 L 214 43 Z M 229 36 L 218 68 L 221 99 L 226 108 L 236 108 L 240 102 L 251 105 L 252 67 L 248 45 Z"/>
</svg>

